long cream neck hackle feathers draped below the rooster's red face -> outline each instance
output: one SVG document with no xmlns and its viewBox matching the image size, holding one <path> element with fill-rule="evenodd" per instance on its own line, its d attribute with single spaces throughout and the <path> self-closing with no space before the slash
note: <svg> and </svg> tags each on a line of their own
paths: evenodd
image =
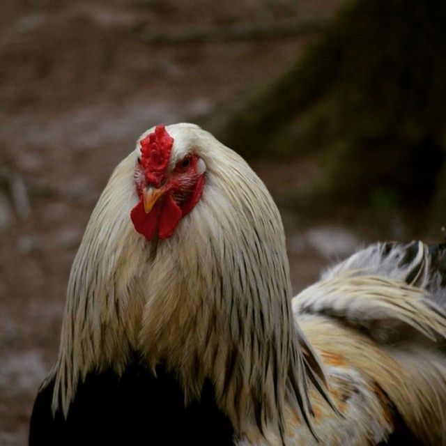
<svg viewBox="0 0 446 446">
<path fill-rule="evenodd" d="M 70 275 L 53 410 L 67 414 L 79 379 L 120 373 L 137 350 L 176 374 L 186 401 L 210 380 L 237 433 L 282 435 L 284 406 L 307 419 L 307 378 L 324 379 L 293 321 L 282 221 L 247 164 L 195 132 L 206 187 L 171 238 L 148 242 L 132 227 L 135 153 L 102 193 Z"/>
</svg>

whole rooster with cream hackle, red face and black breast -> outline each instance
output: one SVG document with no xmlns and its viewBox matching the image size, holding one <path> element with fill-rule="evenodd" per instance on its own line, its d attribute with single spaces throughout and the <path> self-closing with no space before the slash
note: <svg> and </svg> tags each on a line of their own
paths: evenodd
<svg viewBox="0 0 446 446">
<path fill-rule="evenodd" d="M 444 243 L 380 242 L 293 297 L 260 178 L 157 125 L 86 226 L 29 445 L 445 445 L 445 287 Z"/>
</svg>

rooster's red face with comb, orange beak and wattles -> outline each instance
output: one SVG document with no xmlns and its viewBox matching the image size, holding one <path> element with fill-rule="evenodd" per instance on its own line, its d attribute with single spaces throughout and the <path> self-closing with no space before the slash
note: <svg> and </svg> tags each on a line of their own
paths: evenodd
<svg viewBox="0 0 446 446">
<path fill-rule="evenodd" d="M 192 152 L 171 156 L 174 139 L 164 125 L 158 125 L 140 144 L 141 156 L 134 170 L 139 202 L 130 217 L 134 229 L 148 240 L 168 238 L 199 202 L 206 164 Z"/>
</svg>

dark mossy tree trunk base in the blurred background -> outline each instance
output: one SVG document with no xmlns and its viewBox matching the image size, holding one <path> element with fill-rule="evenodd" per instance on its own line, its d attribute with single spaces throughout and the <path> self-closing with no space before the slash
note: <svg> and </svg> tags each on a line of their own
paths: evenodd
<svg viewBox="0 0 446 446">
<path fill-rule="evenodd" d="M 357 0 L 219 136 L 246 157 L 319 151 L 316 194 L 426 208 L 445 158 L 446 2 Z"/>
</svg>

